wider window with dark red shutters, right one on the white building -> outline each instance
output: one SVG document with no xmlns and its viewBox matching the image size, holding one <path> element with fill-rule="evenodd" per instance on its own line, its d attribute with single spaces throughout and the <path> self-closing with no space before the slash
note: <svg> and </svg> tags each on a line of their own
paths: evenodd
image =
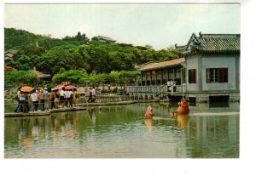
<svg viewBox="0 0 256 182">
<path fill-rule="evenodd" d="M 207 82 L 228 82 L 228 68 L 207 68 Z"/>
</svg>

